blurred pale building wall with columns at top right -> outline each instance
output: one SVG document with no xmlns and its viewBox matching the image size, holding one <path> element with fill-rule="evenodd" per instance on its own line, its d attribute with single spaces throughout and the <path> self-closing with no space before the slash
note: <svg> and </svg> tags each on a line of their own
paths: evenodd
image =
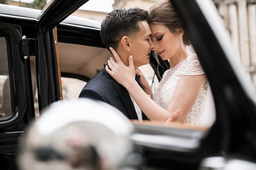
<svg viewBox="0 0 256 170">
<path fill-rule="evenodd" d="M 238 58 L 256 87 L 256 0 L 214 0 Z"/>
</svg>

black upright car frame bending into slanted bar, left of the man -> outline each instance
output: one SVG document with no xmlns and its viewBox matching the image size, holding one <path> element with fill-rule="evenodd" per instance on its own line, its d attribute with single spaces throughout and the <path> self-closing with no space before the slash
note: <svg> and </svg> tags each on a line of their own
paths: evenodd
<svg viewBox="0 0 256 170">
<path fill-rule="evenodd" d="M 52 0 L 37 18 L 38 57 L 36 66 L 39 110 L 61 99 L 53 28 L 87 1 Z"/>
</svg>

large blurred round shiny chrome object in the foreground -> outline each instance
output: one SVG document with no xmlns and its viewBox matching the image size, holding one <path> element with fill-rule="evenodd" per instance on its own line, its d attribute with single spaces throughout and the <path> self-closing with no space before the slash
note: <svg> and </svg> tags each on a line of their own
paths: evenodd
<svg viewBox="0 0 256 170">
<path fill-rule="evenodd" d="M 133 126 L 90 99 L 52 104 L 21 139 L 21 170 L 115 170 L 132 150 Z"/>
</svg>

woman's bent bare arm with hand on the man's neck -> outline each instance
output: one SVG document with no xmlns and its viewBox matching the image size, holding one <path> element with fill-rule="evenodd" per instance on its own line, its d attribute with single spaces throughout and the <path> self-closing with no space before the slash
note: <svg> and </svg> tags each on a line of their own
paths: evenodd
<svg viewBox="0 0 256 170">
<path fill-rule="evenodd" d="M 112 48 L 110 50 L 115 56 L 117 62 L 111 58 L 108 61 L 108 66 L 111 70 L 106 66 L 106 71 L 119 84 L 123 85 L 127 89 L 132 98 L 150 120 L 166 121 L 171 117 L 171 113 L 174 113 L 175 109 L 178 109 L 180 110 L 180 115 L 176 121 L 183 122 L 184 118 L 193 107 L 193 104 L 200 92 L 200 88 L 205 82 L 204 75 L 182 75 L 177 84 L 171 103 L 166 110 L 148 97 L 148 95 L 135 81 L 135 69 L 133 66 L 132 56 L 129 56 L 129 66 L 126 66 L 121 61 L 119 55 Z"/>
</svg>

